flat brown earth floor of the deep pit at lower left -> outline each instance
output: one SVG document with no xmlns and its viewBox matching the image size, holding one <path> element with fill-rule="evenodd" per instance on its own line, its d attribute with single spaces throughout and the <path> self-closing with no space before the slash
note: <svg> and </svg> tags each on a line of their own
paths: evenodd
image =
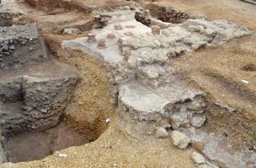
<svg viewBox="0 0 256 168">
<path fill-rule="evenodd" d="M 16 163 L 30 160 L 41 160 L 52 155 L 56 150 L 70 146 L 79 146 L 91 142 L 87 134 L 78 133 L 67 126 L 65 121 L 56 127 L 44 131 L 23 131 L 19 134 L 5 136 L 3 149 L 6 161 Z"/>
</svg>

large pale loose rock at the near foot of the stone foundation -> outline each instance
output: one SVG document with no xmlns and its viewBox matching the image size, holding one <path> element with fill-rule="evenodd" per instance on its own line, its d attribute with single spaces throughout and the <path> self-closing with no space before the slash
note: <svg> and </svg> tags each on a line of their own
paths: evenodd
<svg viewBox="0 0 256 168">
<path fill-rule="evenodd" d="M 185 134 L 180 133 L 179 131 L 173 131 L 171 134 L 171 139 L 175 146 L 178 146 L 181 149 L 184 149 L 188 146 L 190 139 Z"/>
</svg>

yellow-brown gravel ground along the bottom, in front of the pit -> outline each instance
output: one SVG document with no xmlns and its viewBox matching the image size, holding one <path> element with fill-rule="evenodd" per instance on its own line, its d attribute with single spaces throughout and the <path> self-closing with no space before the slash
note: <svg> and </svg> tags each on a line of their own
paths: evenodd
<svg viewBox="0 0 256 168">
<path fill-rule="evenodd" d="M 173 147 L 169 139 L 129 139 L 111 125 L 96 141 L 56 152 L 44 160 L 1 167 L 195 167 L 189 150 Z M 60 157 L 66 154 L 67 157 Z"/>
</svg>

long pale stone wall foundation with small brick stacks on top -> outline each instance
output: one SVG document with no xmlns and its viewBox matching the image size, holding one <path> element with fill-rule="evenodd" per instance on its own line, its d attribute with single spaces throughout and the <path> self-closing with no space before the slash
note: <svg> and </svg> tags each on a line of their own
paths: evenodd
<svg viewBox="0 0 256 168">
<path fill-rule="evenodd" d="M 169 62 L 184 53 L 222 45 L 251 32 L 227 20 L 210 22 L 205 18 L 184 18 L 187 20 L 182 24 L 158 21 L 165 27 L 158 31 L 160 27 L 150 29 L 137 22 L 136 11 L 101 15 L 109 15 L 108 25 L 93 30 L 88 38 L 63 41 L 62 50 L 95 55 L 109 68 L 111 98 L 125 134 L 137 139 L 170 136 L 179 148 L 192 144 L 211 160 L 202 164 L 207 167 L 250 165 L 252 151 L 230 151 L 222 146 L 231 145 L 228 139 L 220 134 L 208 137 L 203 127 L 206 94 L 190 86 Z"/>
</svg>

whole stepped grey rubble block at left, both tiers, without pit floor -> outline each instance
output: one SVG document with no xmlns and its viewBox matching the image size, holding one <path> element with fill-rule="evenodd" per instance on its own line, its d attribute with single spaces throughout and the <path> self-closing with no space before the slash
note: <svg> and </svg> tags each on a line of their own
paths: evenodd
<svg viewBox="0 0 256 168">
<path fill-rule="evenodd" d="M 36 24 L 0 27 L 0 126 L 6 134 L 56 126 L 80 77 L 51 60 Z"/>
</svg>

